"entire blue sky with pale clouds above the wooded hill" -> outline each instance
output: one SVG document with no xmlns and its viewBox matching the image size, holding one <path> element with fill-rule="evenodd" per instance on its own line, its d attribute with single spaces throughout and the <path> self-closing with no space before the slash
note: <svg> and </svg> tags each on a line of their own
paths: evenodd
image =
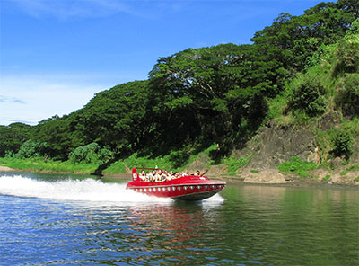
<svg viewBox="0 0 359 266">
<path fill-rule="evenodd" d="M 188 48 L 250 43 L 317 0 L 0 0 L 0 125 L 83 108 Z M 326 1 L 328 2 L 328 1 Z"/>
</svg>

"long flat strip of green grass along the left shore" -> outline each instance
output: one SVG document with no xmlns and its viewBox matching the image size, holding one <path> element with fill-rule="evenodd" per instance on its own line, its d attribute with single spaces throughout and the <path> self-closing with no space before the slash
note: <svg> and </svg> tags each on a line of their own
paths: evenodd
<svg viewBox="0 0 359 266">
<path fill-rule="evenodd" d="M 56 172 L 56 173 L 93 173 L 99 165 L 97 164 L 74 164 L 68 161 L 52 161 L 44 158 L 17 159 L 12 157 L 0 158 L 0 165 L 13 169 L 31 172 Z"/>
</svg>

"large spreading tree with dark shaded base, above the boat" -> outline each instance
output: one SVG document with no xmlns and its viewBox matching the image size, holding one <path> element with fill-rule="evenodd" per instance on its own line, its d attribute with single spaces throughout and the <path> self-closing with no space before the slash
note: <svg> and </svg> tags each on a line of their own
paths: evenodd
<svg viewBox="0 0 359 266">
<path fill-rule="evenodd" d="M 149 110 L 158 141 L 200 137 L 224 151 L 243 125 L 257 127 L 276 62 L 258 61 L 256 53 L 250 45 L 226 44 L 160 58 L 150 73 Z"/>
</svg>

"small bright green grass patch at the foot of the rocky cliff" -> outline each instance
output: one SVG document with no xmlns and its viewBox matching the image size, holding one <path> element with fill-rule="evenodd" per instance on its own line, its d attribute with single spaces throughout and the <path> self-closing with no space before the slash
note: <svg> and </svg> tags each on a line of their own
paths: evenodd
<svg viewBox="0 0 359 266">
<path fill-rule="evenodd" d="M 301 178 L 311 176 L 311 173 L 308 171 L 317 169 L 318 165 L 309 162 L 303 162 L 298 157 L 293 157 L 291 161 L 287 161 L 278 166 L 278 169 L 283 173 L 294 173 L 295 175 L 300 176 Z"/>
</svg>

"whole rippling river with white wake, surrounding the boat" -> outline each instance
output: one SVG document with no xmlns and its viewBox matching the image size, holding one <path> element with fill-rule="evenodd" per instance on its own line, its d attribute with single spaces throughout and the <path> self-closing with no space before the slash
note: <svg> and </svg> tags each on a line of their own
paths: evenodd
<svg viewBox="0 0 359 266">
<path fill-rule="evenodd" d="M 358 265 L 359 191 L 230 184 L 201 202 L 0 173 L 0 265 Z"/>
</svg>

